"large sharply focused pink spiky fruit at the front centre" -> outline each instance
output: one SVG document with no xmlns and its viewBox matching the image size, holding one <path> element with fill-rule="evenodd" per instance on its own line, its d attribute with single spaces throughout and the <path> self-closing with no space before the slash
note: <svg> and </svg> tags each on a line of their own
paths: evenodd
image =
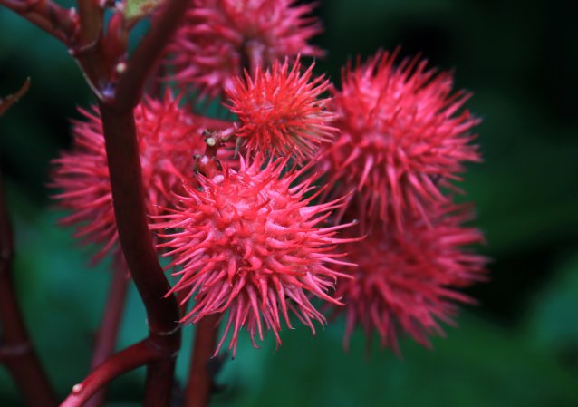
<svg viewBox="0 0 578 407">
<path fill-rule="evenodd" d="M 338 276 L 333 266 L 353 266 L 342 261 L 336 246 L 356 238 L 335 237 L 351 224 L 323 228 L 332 209 L 343 199 L 310 205 L 317 194 L 311 166 L 283 173 L 287 160 L 265 161 L 258 156 L 250 164 L 241 161 L 238 171 L 219 171 L 211 179 L 198 175 L 196 186 L 185 186 L 177 208 L 160 217 L 156 229 L 160 245 L 178 267 L 172 292 L 184 292 L 182 303 L 194 297 L 183 323 L 197 323 L 207 315 L 226 315 L 225 334 L 217 351 L 232 331 L 229 348 L 236 352 L 239 330 L 245 326 L 253 344 L 272 331 L 281 344 L 282 321 L 291 327 L 296 315 L 315 332 L 313 321 L 323 325 L 311 296 L 333 305 L 329 296 Z M 300 179 L 296 185 L 294 184 Z M 172 230 L 172 232 L 170 231 Z M 224 316 L 223 316 L 224 317 Z"/>
</svg>

